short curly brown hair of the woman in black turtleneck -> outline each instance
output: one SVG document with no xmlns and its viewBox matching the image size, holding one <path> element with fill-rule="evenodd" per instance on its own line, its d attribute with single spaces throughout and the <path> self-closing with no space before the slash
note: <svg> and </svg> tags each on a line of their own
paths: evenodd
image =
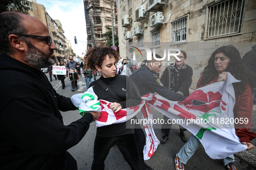
<svg viewBox="0 0 256 170">
<path fill-rule="evenodd" d="M 115 64 L 118 62 L 118 57 L 120 56 L 116 50 L 111 47 L 107 47 L 103 44 L 97 45 L 94 48 L 90 48 L 86 51 L 85 62 L 87 69 L 96 69 L 95 66 L 99 66 L 101 68 L 103 60 L 109 56 L 109 58 L 114 57 L 116 59 Z"/>
</svg>

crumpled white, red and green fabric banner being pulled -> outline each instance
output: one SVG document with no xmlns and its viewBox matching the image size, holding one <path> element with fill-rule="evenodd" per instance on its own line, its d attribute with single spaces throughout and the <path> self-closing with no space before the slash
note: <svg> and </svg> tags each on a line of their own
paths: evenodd
<svg viewBox="0 0 256 170">
<path fill-rule="evenodd" d="M 143 101 L 140 105 L 122 109 L 117 113 L 113 113 L 109 108 L 110 102 L 97 101 L 97 95 L 92 88 L 84 94 L 73 95 L 71 101 L 78 107 L 82 116 L 88 111 L 102 111 L 100 119 L 95 121 L 98 127 L 123 123 L 133 118 L 140 110 L 142 110 L 143 119 L 153 119 L 148 105 L 152 106 L 195 135 L 211 158 L 223 159 L 247 149 L 240 143 L 233 124 L 220 123 L 221 118 L 233 118 L 235 104 L 233 82 L 239 81 L 228 73 L 226 81 L 198 88 L 181 102 L 169 101 L 156 93 L 149 93 L 142 96 Z M 191 123 L 192 120 L 201 121 Z M 154 154 L 159 145 L 159 140 L 152 129 L 153 125 L 149 124 L 150 121 L 147 122 L 148 124 L 144 126 L 146 131 L 145 160 Z"/>
</svg>

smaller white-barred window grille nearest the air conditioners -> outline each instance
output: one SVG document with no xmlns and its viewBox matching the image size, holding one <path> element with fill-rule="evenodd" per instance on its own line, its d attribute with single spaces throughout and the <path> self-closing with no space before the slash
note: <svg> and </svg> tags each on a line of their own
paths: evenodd
<svg viewBox="0 0 256 170">
<path fill-rule="evenodd" d="M 187 41 L 187 17 L 172 22 L 172 43 Z"/>
</svg>

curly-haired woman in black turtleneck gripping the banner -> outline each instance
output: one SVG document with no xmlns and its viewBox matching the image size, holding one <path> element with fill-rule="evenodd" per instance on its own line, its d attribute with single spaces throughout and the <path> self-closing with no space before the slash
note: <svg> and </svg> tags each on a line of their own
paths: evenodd
<svg viewBox="0 0 256 170">
<path fill-rule="evenodd" d="M 102 75 L 100 79 L 92 82 L 89 88 L 93 88 L 98 99 L 113 102 L 110 109 L 115 113 L 141 103 L 139 90 L 133 81 L 127 76 L 116 74 L 118 57 L 117 51 L 103 45 L 87 50 L 86 54 L 86 69 L 97 69 Z M 107 91 L 105 91 L 104 85 L 108 87 Z M 117 144 L 132 170 L 146 169 L 139 156 L 134 129 L 126 129 L 126 122 L 124 122 L 97 128 L 92 170 L 104 170 L 104 161 L 114 144 Z"/>
</svg>

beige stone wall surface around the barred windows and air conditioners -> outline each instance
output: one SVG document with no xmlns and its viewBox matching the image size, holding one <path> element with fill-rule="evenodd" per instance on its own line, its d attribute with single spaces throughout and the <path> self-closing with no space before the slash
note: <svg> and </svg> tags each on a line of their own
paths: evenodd
<svg viewBox="0 0 256 170">
<path fill-rule="evenodd" d="M 251 46 L 256 44 L 256 3 L 255 0 L 245 0 L 243 6 L 243 19 L 241 22 L 240 32 L 230 35 L 222 35 L 214 38 L 207 38 L 207 27 L 208 27 L 208 13 L 209 6 L 223 2 L 224 0 L 169 0 L 168 5 L 159 9 L 163 12 L 164 22 L 168 18 L 169 14 L 172 13 L 170 20 L 165 25 L 160 25 L 160 41 L 165 42 L 165 47 L 157 47 L 159 54 L 163 56 L 164 48 L 178 48 L 180 50 L 185 50 L 188 59 L 185 61 L 193 69 L 192 85 L 191 89 L 196 88 L 196 83 L 200 78 L 200 73 L 203 71 L 207 64 L 207 60 L 211 56 L 214 50 L 218 47 L 227 44 L 233 44 L 239 50 L 241 57 L 251 50 Z M 126 44 L 129 40 L 124 39 L 124 32 L 131 31 L 133 34 L 133 27 L 136 25 L 141 25 L 144 28 L 144 42 L 151 41 L 151 31 L 155 28 L 150 28 L 150 16 L 154 12 L 150 12 L 147 15 L 148 18 L 143 19 L 142 22 L 134 22 L 135 20 L 135 9 L 140 5 L 140 0 L 133 0 L 133 13 L 130 15 L 130 19 L 133 19 L 132 25 L 128 27 L 122 27 L 121 19 L 124 15 L 128 15 L 128 1 L 119 0 L 118 1 L 118 35 L 120 44 L 120 56 L 125 58 L 130 56 L 132 53 L 127 53 Z M 146 5 L 146 10 L 148 8 L 147 1 L 143 4 Z M 171 34 L 171 22 L 188 16 L 188 27 L 187 27 L 187 42 L 172 44 L 172 34 Z M 147 28 L 144 27 L 146 23 Z M 138 42 L 138 38 L 133 36 L 133 44 Z M 169 46 L 166 43 L 169 42 Z M 151 48 L 151 47 L 149 47 Z M 151 48 L 152 49 L 152 48 Z M 144 53 L 142 51 L 142 53 Z M 146 56 L 146 54 L 143 54 Z M 142 62 L 146 57 L 138 57 L 138 62 Z M 174 59 L 171 62 L 175 62 Z M 160 76 L 164 71 L 165 66 L 162 66 L 162 71 Z"/>
</svg>

